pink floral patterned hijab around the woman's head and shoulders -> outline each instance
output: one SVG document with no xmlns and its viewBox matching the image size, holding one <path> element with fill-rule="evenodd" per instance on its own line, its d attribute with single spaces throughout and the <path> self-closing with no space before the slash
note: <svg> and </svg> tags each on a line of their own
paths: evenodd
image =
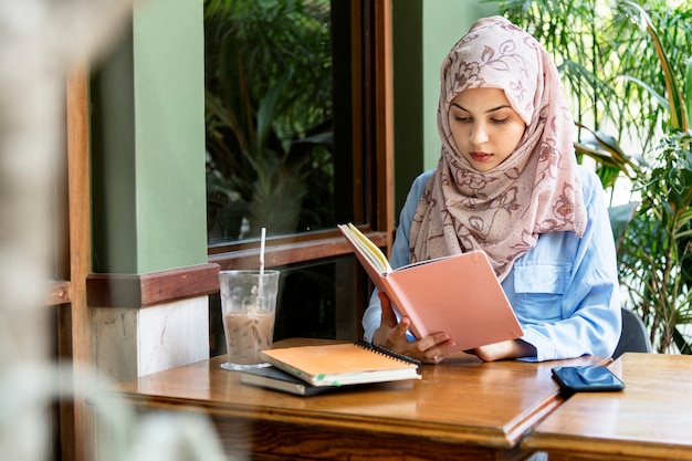
<svg viewBox="0 0 692 461">
<path fill-rule="evenodd" d="M 481 19 L 452 48 L 440 78 L 442 155 L 413 216 L 411 262 L 480 249 L 502 281 L 538 234 L 581 237 L 587 218 L 574 122 L 545 49 L 504 18 Z M 503 90 L 526 123 L 514 153 L 489 171 L 461 155 L 449 126 L 450 102 L 478 87 Z"/>
</svg>

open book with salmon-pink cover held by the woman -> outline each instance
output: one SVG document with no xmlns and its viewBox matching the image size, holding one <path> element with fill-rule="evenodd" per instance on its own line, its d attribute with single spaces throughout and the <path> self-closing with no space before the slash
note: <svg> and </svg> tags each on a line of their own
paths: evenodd
<svg viewBox="0 0 692 461">
<path fill-rule="evenodd" d="M 523 331 L 483 251 L 470 251 L 392 270 L 387 258 L 354 224 L 339 230 L 377 289 L 417 338 L 445 332 L 452 352 L 515 339 Z"/>
</svg>

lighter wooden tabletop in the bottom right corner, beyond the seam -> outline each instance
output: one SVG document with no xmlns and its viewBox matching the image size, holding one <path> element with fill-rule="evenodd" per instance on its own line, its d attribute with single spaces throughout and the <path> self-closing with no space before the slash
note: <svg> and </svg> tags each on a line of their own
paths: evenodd
<svg viewBox="0 0 692 461">
<path fill-rule="evenodd" d="M 692 356 L 627 353 L 621 392 L 576 394 L 522 447 L 555 460 L 692 460 Z"/>
</svg>

